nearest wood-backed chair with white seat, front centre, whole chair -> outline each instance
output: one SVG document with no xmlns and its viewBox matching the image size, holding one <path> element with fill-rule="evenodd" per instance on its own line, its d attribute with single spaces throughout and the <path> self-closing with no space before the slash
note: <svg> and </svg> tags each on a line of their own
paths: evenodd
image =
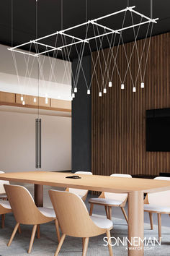
<svg viewBox="0 0 170 256">
<path fill-rule="evenodd" d="M 79 195 L 57 190 L 50 190 L 49 195 L 62 231 L 61 241 L 58 244 L 55 256 L 60 252 L 66 236 L 83 238 L 83 256 L 86 256 L 89 237 L 106 233 L 107 238 L 110 238 L 109 231 L 112 229 L 112 221 L 107 218 L 90 217 L 86 205 Z M 110 244 L 109 255 L 112 256 L 112 246 Z"/>
</svg>

